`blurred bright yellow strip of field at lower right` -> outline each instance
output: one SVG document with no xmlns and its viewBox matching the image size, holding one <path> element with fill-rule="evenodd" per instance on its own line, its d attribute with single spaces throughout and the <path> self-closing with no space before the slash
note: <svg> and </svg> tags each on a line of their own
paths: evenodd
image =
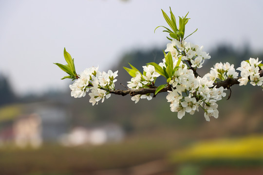
<svg viewBox="0 0 263 175">
<path fill-rule="evenodd" d="M 171 154 L 174 163 L 263 166 L 263 136 L 200 141 Z"/>
</svg>

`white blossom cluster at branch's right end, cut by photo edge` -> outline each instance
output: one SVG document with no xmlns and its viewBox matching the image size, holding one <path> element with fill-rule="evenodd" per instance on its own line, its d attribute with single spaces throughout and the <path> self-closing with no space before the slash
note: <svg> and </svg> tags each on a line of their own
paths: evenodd
<svg viewBox="0 0 263 175">
<path fill-rule="evenodd" d="M 259 64 L 261 62 L 262 61 L 259 61 L 259 58 L 250 58 L 248 61 L 241 62 L 241 67 L 237 68 L 237 70 L 241 71 L 241 78 L 238 79 L 240 86 L 246 85 L 250 80 L 251 85 L 263 87 L 263 77 L 260 77 L 259 73 Z"/>
</svg>

